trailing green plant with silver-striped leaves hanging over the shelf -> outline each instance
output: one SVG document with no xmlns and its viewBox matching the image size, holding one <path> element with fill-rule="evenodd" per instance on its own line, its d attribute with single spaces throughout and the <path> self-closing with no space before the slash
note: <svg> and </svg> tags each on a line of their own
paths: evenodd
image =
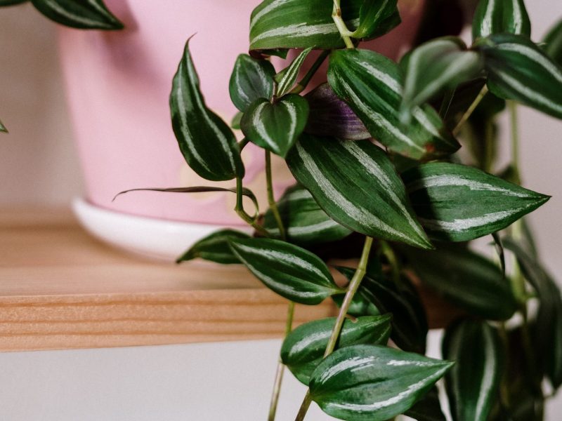
<svg viewBox="0 0 562 421">
<path fill-rule="evenodd" d="M 284 367 L 308 386 L 296 420 L 313 401 L 342 420 L 444 420 L 442 378 L 453 420 L 541 420 L 562 384 L 561 293 L 522 219 L 549 196 L 520 187 L 516 131 L 518 103 L 562 119 L 562 24 L 536 44 L 522 0 L 481 0 L 472 13 L 464 3 L 429 1 L 414 48 L 394 62 L 361 41 L 400 23 L 396 0 L 263 1 L 230 79 L 241 142 L 205 105 L 185 46 L 170 96 L 179 147 L 202 178 L 236 187 L 164 190 L 233 192 L 255 233 L 216 232 L 178 261 L 245 265 L 287 298 L 269 420 Z M 470 45 L 457 36 L 462 25 L 440 22 L 451 18 L 440 8 L 473 16 Z M 274 69 L 268 57 L 292 48 L 294 60 Z M 327 83 L 311 86 L 325 61 Z M 501 169 L 505 108 L 513 159 Z M 265 154 L 263 214 L 244 188 L 249 142 Z M 278 200 L 272 153 L 296 179 Z M 495 258 L 470 247 L 483 236 Z M 329 268 L 334 258 L 358 263 Z M 424 356 L 420 284 L 460 314 L 446 326 L 443 360 Z M 292 330 L 294 303 L 328 299 L 337 317 Z"/>
</svg>

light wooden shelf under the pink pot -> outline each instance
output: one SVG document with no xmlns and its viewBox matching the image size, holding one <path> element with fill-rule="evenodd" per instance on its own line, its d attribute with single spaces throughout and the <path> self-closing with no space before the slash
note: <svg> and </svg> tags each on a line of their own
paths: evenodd
<svg viewBox="0 0 562 421">
<path fill-rule="evenodd" d="M 0 238 L 0 351 L 280 338 L 285 327 L 287 302 L 243 267 L 141 260 L 68 210 L 0 210 Z M 428 304 L 443 326 L 449 309 Z M 334 314 L 329 300 L 298 305 L 295 325 Z"/>
</svg>

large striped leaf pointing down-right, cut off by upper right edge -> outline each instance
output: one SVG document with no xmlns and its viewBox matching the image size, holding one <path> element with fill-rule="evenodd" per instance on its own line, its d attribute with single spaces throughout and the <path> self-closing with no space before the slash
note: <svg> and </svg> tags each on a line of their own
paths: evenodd
<svg viewBox="0 0 562 421">
<path fill-rule="evenodd" d="M 481 48 L 492 93 L 562 119 L 562 68 L 540 48 L 512 34 L 492 35 Z"/>
</svg>

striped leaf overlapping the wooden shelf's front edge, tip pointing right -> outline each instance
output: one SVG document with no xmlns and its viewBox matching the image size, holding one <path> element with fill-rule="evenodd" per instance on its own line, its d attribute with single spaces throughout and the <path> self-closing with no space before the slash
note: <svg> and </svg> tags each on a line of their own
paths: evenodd
<svg viewBox="0 0 562 421">
<path fill-rule="evenodd" d="M 298 246 L 273 239 L 233 239 L 230 247 L 256 278 L 288 300 L 316 305 L 343 292 L 325 262 Z"/>
</svg>

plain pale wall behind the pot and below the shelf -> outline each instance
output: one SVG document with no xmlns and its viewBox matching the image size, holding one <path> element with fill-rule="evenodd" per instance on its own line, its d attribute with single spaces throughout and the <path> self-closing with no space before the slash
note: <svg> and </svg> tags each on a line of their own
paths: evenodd
<svg viewBox="0 0 562 421">
<path fill-rule="evenodd" d="M 535 24 L 533 37 L 540 39 L 562 15 L 562 4 L 526 3 Z M 11 130 L 10 135 L 0 135 L 0 206 L 67 206 L 80 194 L 81 180 L 60 80 L 55 25 L 29 5 L 0 9 L 0 119 Z M 562 123 L 521 109 L 521 135 L 525 187 L 554 196 L 531 220 L 544 260 L 562 280 Z M 436 352 L 437 335 L 433 339 Z M 0 418 L 261 419 L 251 414 L 265 413 L 278 346 L 277 341 L 265 341 L 255 346 L 242 342 L 0 354 Z M 222 363 L 216 364 L 218 360 Z M 245 373 L 251 378 L 240 380 Z M 221 379 L 220 385 L 212 379 Z M 289 385 L 283 420 L 289 419 L 302 392 L 295 382 Z M 217 387 L 219 396 L 227 396 L 223 404 L 211 396 Z M 549 420 L 560 420 L 561 413 L 558 396 L 549 406 Z M 324 419 L 319 413 L 311 417 Z"/>
</svg>

